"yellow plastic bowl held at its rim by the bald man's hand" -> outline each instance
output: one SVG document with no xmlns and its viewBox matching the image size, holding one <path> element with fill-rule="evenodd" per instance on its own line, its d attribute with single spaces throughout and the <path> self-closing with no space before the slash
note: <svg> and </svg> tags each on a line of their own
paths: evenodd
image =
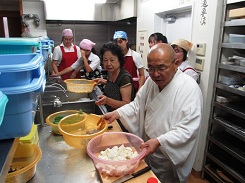
<svg viewBox="0 0 245 183">
<path fill-rule="evenodd" d="M 64 125 L 66 118 L 60 120 L 58 130 L 69 146 L 79 149 L 86 150 L 89 140 L 104 133 L 108 128 L 107 121 L 103 119 L 98 131 L 91 133 L 91 130 L 97 129 L 97 122 L 100 120 L 100 116 L 94 114 L 88 114 L 87 119 L 83 123 L 76 123 L 72 127 Z M 88 131 L 91 134 L 88 134 Z"/>
</svg>

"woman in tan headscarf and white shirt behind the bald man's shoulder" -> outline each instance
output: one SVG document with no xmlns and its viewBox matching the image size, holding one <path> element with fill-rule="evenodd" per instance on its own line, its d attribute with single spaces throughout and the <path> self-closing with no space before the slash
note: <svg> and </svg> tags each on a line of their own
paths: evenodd
<svg viewBox="0 0 245 183">
<path fill-rule="evenodd" d="M 187 53 L 191 50 L 192 45 L 191 42 L 185 39 L 178 39 L 171 44 L 176 54 L 176 58 L 180 60 L 179 69 L 197 81 L 199 75 L 187 61 Z"/>
</svg>

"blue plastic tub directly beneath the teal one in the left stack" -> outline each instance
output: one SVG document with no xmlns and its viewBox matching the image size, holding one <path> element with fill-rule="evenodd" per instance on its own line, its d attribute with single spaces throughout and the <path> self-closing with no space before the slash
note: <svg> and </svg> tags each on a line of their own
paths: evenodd
<svg viewBox="0 0 245 183">
<path fill-rule="evenodd" d="M 42 68 L 41 54 L 0 55 L 0 87 L 29 84 Z"/>
</svg>

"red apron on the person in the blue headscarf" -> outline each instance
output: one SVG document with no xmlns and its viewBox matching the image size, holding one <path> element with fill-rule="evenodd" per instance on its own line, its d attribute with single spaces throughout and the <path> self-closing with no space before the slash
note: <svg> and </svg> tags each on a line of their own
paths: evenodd
<svg viewBox="0 0 245 183">
<path fill-rule="evenodd" d="M 138 78 L 137 67 L 132 56 L 124 57 L 124 68 L 131 74 L 132 78 Z M 137 92 L 139 89 L 139 81 L 134 81 L 134 88 Z"/>
</svg>

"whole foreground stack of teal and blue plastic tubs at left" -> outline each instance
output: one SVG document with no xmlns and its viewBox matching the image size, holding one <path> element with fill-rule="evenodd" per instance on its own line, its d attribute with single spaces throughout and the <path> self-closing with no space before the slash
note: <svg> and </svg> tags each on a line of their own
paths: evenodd
<svg viewBox="0 0 245 183">
<path fill-rule="evenodd" d="M 0 38 L 0 91 L 8 98 L 0 140 L 30 133 L 37 96 L 46 84 L 38 38 Z"/>
</svg>

